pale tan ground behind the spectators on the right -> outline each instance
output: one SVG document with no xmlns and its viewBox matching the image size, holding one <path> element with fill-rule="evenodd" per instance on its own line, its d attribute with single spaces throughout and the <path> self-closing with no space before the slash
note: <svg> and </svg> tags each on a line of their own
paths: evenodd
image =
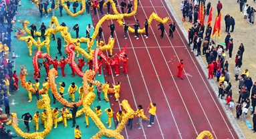
<svg viewBox="0 0 256 139">
<path fill-rule="evenodd" d="M 174 11 L 177 13 L 180 21 L 182 22 L 182 13 L 180 13 L 180 2 L 181 1 L 175 1 L 175 0 L 169 0 L 170 4 L 172 5 L 172 7 L 174 8 Z M 213 22 L 212 24 L 214 25 L 214 21 L 215 21 L 215 14 L 217 11 L 216 5 L 217 5 L 217 1 L 210 1 L 213 5 Z M 207 1 L 208 3 L 208 1 Z M 244 15 L 243 13 L 239 13 L 239 4 L 236 3 L 236 1 L 221 1 L 221 3 L 223 4 L 223 9 L 222 11 L 222 21 L 221 21 L 221 39 L 219 39 L 217 37 L 217 41 L 221 41 L 224 42 L 225 37 L 226 37 L 226 33 L 225 33 L 225 21 L 224 21 L 224 17 L 225 15 L 227 15 L 227 13 L 229 13 L 234 19 L 235 19 L 235 29 L 234 32 L 231 33 L 231 37 L 233 37 L 234 41 L 234 49 L 233 49 L 233 58 L 232 59 L 227 59 L 227 61 L 229 61 L 229 73 L 230 73 L 230 77 L 231 77 L 231 84 L 232 84 L 232 89 L 233 89 L 233 100 L 235 100 L 235 102 L 238 100 L 239 95 L 237 94 L 238 92 L 238 82 L 234 82 L 233 76 L 234 74 L 234 68 L 235 68 L 235 57 L 234 55 L 237 53 L 237 49 L 240 45 L 240 43 L 243 43 L 243 45 L 245 46 L 245 55 L 243 56 L 243 65 L 241 66 L 241 72 L 244 72 L 245 69 L 249 69 L 249 76 L 251 76 L 251 78 L 253 79 L 253 82 L 255 82 L 255 63 L 253 63 L 251 61 L 251 59 L 255 59 L 254 54 L 256 52 L 255 49 L 253 49 L 253 46 L 255 45 L 255 37 L 253 35 L 253 33 L 255 32 L 255 25 L 250 25 L 249 23 L 247 23 L 247 21 L 245 19 L 243 19 Z M 247 4 L 249 4 L 252 7 L 256 7 L 256 3 L 254 3 L 253 1 L 248 1 Z M 177 6 L 174 6 L 177 5 Z M 208 17 L 205 17 L 206 21 L 208 20 Z M 186 21 L 188 21 L 188 19 L 186 19 Z M 206 23 L 205 23 L 206 24 Z M 188 30 L 189 27 L 192 27 L 192 23 L 188 23 L 188 22 L 184 22 L 183 23 L 184 28 L 186 30 Z M 226 53 L 227 55 L 227 53 Z M 227 55 L 228 57 L 228 55 Z M 205 57 L 203 57 L 203 59 L 205 60 Z M 241 73 L 242 74 L 242 73 Z M 216 78 L 214 79 L 216 80 Z M 235 103 L 235 106 L 237 104 Z M 247 114 L 247 119 L 251 122 L 251 124 L 253 124 L 252 122 L 252 115 L 250 114 L 251 111 L 248 112 Z M 233 116 L 236 116 L 235 110 L 233 110 Z M 240 120 L 237 120 L 237 124 L 239 125 L 239 127 L 241 128 L 245 138 L 255 138 L 253 137 L 253 131 L 248 130 L 247 126 L 245 123 L 241 123 L 241 118 Z"/>
</svg>

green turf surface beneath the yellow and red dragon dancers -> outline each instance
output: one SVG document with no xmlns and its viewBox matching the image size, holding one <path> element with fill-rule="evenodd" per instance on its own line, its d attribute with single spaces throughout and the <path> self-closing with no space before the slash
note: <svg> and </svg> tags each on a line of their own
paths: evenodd
<svg viewBox="0 0 256 139">
<path fill-rule="evenodd" d="M 41 23 L 44 22 L 46 27 L 49 26 L 49 21 L 51 20 L 51 13 L 49 13 L 49 17 L 45 17 L 43 13 L 43 17 L 40 17 L 40 13 L 39 10 L 37 9 L 37 7 L 35 6 L 35 4 L 30 3 L 29 1 L 21 1 L 21 4 L 23 5 L 22 7 L 18 7 L 18 13 L 19 15 L 16 15 L 16 19 L 17 21 L 15 22 L 17 25 L 15 25 L 14 27 L 14 31 L 17 31 L 17 27 L 21 27 L 21 23 L 18 23 L 19 20 L 23 20 L 26 19 L 27 21 L 29 21 L 29 25 L 31 25 L 32 23 L 35 24 L 35 26 L 37 27 L 37 30 L 41 27 Z M 79 3 L 80 4 L 80 3 Z M 48 6 L 50 7 L 50 5 Z M 72 9 L 72 8 L 70 8 Z M 80 8 L 78 8 L 80 9 Z M 72 11 L 73 12 L 73 11 Z M 92 18 L 90 15 L 79 15 L 78 17 L 71 17 L 71 16 L 67 16 L 66 11 L 63 9 L 62 11 L 63 13 L 63 17 L 59 17 L 57 15 L 59 15 L 59 9 L 57 9 L 55 11 L 55 16 L 57 16 L 57 19 L 59 21 L 59 23 L 66 23 L 66 25 L 70 28 L 69 31 L 71 31 L 72 27 L 74 27 L 74 25 L 76 25 L 76 23 L 79 24 L 80 27 L 80 37 L 82 36 L 86 36 L 86 26 L 90 23 L 92 24 Z M 95 26 L 95 25 L 94 25 Z M 33 80 L 33 65 L 32 65 L 32 57 L 29 57 L 29 49 L 27 48 L 27 45 L 24 41 L 18 41 L 17 39 L 15 39 L 14 36 L 14 31 L 12 32 L 12 41 L 11 41 L 11 45 L 12 45 L 12 51 L 15 51 L 15 55 L 17 55 L 17 58 L 15 59 L 15 70 L 17 70 L 17 75 L 19 76 L 19 72 L 20 72 L 20 67 L 19 65 L 25 65 L 25 67 L 27 68 L 27 73 L 29 74 L 28 76 L 26 76 L 26 80 L 29 81 L 31 80 L 32 83 L 35 82 L 35 80 Z M 93 33 L 93 32 L 92 32 Z M 90 35 L 92 35 L 92 33 Z M 72 31 L 71 32 L 72 37 L 76 37 L 76 32 Z M 56 33 L 55 34 L 56 37 L 60 37 L 61 38 L 61 42 L 63 43 L 63 37 L 61 37 L 60 33 Z M 26 35 L 25 35 L 26 36 Z M 35 35 L 35 40 L 37 40 L 37 37 Z M 55 41 L 52 41 L 53 38 L 51 38 L 51 43 L 50 43 L 50 54 L 51 57 L 55 57 L 57 56 L 58 60 L 59 60 L 59 54 L 57 51 L 57 44 Z M 43 39 L 41 39 L 42 41 Z M 96 40 L 94 40 L 94 48 L 96 47 Z M 81 43 L 81 47 L 82 48 L 86 48 L 87 45 L 86 43 Z M 62 55 L 66 56 L 66 53 L 64 53 L 64 48 L 61 48 L 62 51 Z M 37 47 L 35 47 L 33 45 L 32 47 L 33 49 L 33 55 L 35 54 L 35 51 L 37 50 Z M 46 53 L 46 48 L 45 46 L 43 46 L 41 48 L 42 53 Z M 9 53 L 9 57 L 11 57 L 12 53 Z M 82 55 L 80 54 L 80 57 L 82 57 Z M 76 59 L 80 58 L 80 57 L 76 57 Z M 39 59 L 39 61 L 42 63 L 43 59 Z M 86 59 L 86 62 L 88 60 Z M 86 66 L 85 66 L 86 67 Z M 84 68 L 85 68 L 84 67 Z M 53 68 L 53 65 L 50 66 L 50 69 Z M 83 68 L 83 69 L 84 69 Z M 72 82 L 75 82 L 76 85 L 78 86 L 78 88 L 80 86 L 82 86 L 82 78 L 80 78 L 79 76 L 76 76 L 75 78 L 72 78 L 72 70 L 70 68 L 70 66 L 67 64 L 65 67 L 65 73 L 67 74 L 66 78 L 62 78 L 61 76 L 61 68 L 58 67 L 58 74 L 59 77 L 55 78 L 55 80 L 57 80 L 57 82 L 65 82 L 66 83 L 66 89 L 64 91 L 64 94 L 68 93 L 68 87 L 70 86 L 70 84 Z M 41 79 L 39 80 L 40 82 L 40 87 L 39 88 L 43 88 L 42 84 L 43 84 L 43 80 L 46 78 L 46 73 L 45 73 L 45 69 L 44 67 L 42 67 L 41 69 Z M 102 74 L 102 76 L 96 76 L 96 80 L 104 83 L 104 75 Z M 95 92 L 96 93 L 96 90 Z M 19 91 L 15 92 L 14 95 L 9 96 L 9 102 L 10 102 L 10 111 L 17 113 L 17 118 L 21 119 L 21 115 L 25 114 L 26 112 L 29 112 L 31 114 L 31 116 L 33 116 L 35 114 L 35 112 L 39 111 L 40 114 L 41 112 L 43 112 L 43 110 L 39 110 L 37 109 L 36 106 L 36 97 L 35 95 L 33 96 L 33 101 L 32 102 L 28 102 L 28 94 L 27 91 L 25 90 L 25 88 L 22 88 L 20 83 L 19 83 Z M 41 96 L 40 96 L 41 98 Z M 49 91 L 49 98 L 51 99 L 51 107 L 55 108 L 62 108 L 63 105 L 60 104 L 57 100 L 56 100 L 56 104 L 52 105 L 52 94 L 51 91 Z M 68 95 L 64 96 L 65 99 L 68 100 Z M 75 94 L 75 98 L 77 102 L 79 99 L 79 94 L 78 92 L 76 92 Z M 94 107 L 100 105 L 102 107 L 102 112 L 106 109 L 106 108 L 110 108 L 110 103 L 106 103 L 104 99 L 104 94 L 101 94 L 101 98 L 102 98 L 102 102 L 98 102 L 98 100 L 94 101 Z M 68 100 L 69 102 L 71 102 L 71 100 Z M 82 108 L 82 106 L 80 106 L 78 108 L 78 110 L 80 110 Z M 92 106 L 91 106 L 92 108 Z M 59 115 L 60 116 L 60 115 Z M 40 120 L 39 120 L 40 121 Z M 102 123 L 108 127 L 108 124 L 106 124 L 106 122 L 108 121 L 108 116 L 106 115 L 106 113 L 102 114 L 101 116 L 101 121 Z M 98 131 L 98 127 L 96 126 L 96 124 L 92 121 L 91 118 L 89 118 L 89 128 L 85 128 L 86 127 L 86 123 L 84 123 L 84 114 L 78 118 L 76 118 L 76 123 L 77 125 L 80 125 L 80 130 L 82 132 L 82 138 L 92 138 L 92 136 L 94 136 Z M 35 128 L 33 127 L 33 122 L 29 123 L 30 126 L 30 133 L 35 132 Z M 54 127 L 54 126 L 53 126 Z M 60 123 L 58 123 L 58 126 L 56 129 L 54 129 L 52 127 L 51 132 L 45 137 L 46 139 L 48 138 L 74 138 L 74 128 L 72 128 L 72 119 L 68 120 L 68 127 L 67 128 L 63 128 L 64 125 Z M 6 126 L 7 129 L 11 129 L 13 134 L 16 134 L 15 131 L 13 130 L 12 126 Z M 25 125 L 23 124 L 23 122 L 19 121 L 19 128 L 21 128 L 21 130 L 23 130 L 23 132 L 27 132 L 27 129 L 25 129 Z M 112 128 L 111 129 L 115 129 L 114 128 L 114 120 L 112 120 Z M 41 121 L 39 122 L 39 132 L 42 132 L 44 130 L 43 125 L 41 125 Z M 19 136 L 18 138 L 22 138 L 21 136 Z M 102 138 L 107 138 L 106 136 L 102 136 Z"/>
</svg>

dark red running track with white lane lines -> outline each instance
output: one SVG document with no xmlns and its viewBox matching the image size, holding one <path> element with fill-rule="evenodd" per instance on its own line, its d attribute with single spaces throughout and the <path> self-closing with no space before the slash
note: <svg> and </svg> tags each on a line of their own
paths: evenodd
<svg viewBox="0 0 256 139">
<path fill-rule="evenodd" d="M 118 1 L 120 2 L 121 0 Z M 103 10 L 104 13 L 107 12 L 106 8 Z M 121 13 L 121 9 L 119 11 Z M 162 18 L 170 17 L 171 21 L 173 20 L 164 0 L 158 0 L 140 1 L 138 15 L 125 18 L 124 22 L 132 24 L 138 19 L 140 27 L 143 27 L 144 19 L 152 12 Z M 92 15 L 94 25 L 101 17 L 99 11 L 97 16 Z M 112 76 L 105 76 L 105 80 L 110 84 L 122 82 L 120 100 L 128 100 L 133 110 L 141 104 L 149 116 L 146 112 L 148 104 L 157 104 L 152 127 L 147 127 L 149 122 L 143 122 L 142 130 L 138 130 L 137 118 L 134 118 L 133 129 L 129 131 L 130 126 L 126 126 L 121 132 L 125 138 L 197 138 L 203 130 L 209 130 L 214 138 L 238 138 L 207 78 L 201 74 L 203 71 L 195 56 L 186 49 L 186 39 L 178 25 L 173 39 L 168 37 L 168 26 L 164 25 L 167 32 L 164 33 L 164 38 L 160 39 L 160 31 L 153 21 L 148 29 L 148 39 L 143 37 L 144 34 L 140 34 L 140 39 L 136 40 L 133 33 L 129 33 L 128 39 L 124 39 L 123 28 L 118 26 L 116 21 L 106 21 L 102 24 L 105 43 L 108 43 L 110 36 L 110 23 L 116 24 L 113 53 L 118 53 L 126 43 L 128 44 L 128 77 L 122 73 L 120 63 L 120 76 L 116 77 L 115 69 L 112 67 Z M 176 65 L 180 59 L 184 59 L 184 80 L 176 77 Z M 105 65 L 103 67 L 104 75 L 107 75 Z M 109 95 L 109 98 L 116 114 L 121 106 L 115 101 L 114 95 Z M 114 120 L 116 122 L 115 116 Z"/>
</svg>

